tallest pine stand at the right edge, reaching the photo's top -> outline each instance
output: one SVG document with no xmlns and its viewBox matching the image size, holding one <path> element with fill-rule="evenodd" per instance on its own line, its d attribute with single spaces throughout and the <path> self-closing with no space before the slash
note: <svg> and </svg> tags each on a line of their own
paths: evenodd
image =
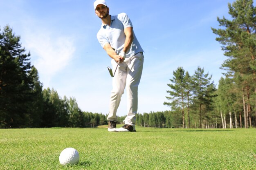
<svg viewBox="0 0 256 170">
<path fill-rule="evenodd" d="M 212 28 L 227 56 L 222 64 L 227 73 L 219 81 L 216 108 L 225 128 L 226 116 L 229 116 L 230 128 L 232 122 L 234 127 L 255 127 L 256 7 L 253 0 L 236 0 L 228 7 L 232 20 L 217 18 L 221 28 Z"/>
</svg>

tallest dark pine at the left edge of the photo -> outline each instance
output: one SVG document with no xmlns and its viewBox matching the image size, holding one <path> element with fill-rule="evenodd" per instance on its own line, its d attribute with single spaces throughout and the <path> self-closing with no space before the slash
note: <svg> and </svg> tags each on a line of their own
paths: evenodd
<svg viewBox="0 0 256 170">
<path fill-rule="evenodd" d="M 7 25 L 0 33 L 0 128 L 26 127 L 33 79 L 30 53 Z"/>
</svg>

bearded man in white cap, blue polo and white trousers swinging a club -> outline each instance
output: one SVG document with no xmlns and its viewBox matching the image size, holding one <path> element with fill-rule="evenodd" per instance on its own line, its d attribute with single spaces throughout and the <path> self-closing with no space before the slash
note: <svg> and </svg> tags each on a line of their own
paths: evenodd
<svg viewBox="0 0 256 170">
<path fill-rule="evenodd" d="M 132 22 L 126 13 L 110 15 L 105 0 L 94 2 L 96 15 L 102 24 L 97 39 L 102 48 L 112 58 L 112 68 L 117 67 L 112 78 L 112 91 L 110 96 L 110 110 L 108 115 L 108 131 L 135 132 L 135 121 L 138 108 L 138 85 L 141 79 L 144 56 L 132 27 Z M 117 66 L 117 63 L 119 65 Z M 127 88 L 128 113 L 124 126 L 116 128 L 117 108 Z"/>
</svg>

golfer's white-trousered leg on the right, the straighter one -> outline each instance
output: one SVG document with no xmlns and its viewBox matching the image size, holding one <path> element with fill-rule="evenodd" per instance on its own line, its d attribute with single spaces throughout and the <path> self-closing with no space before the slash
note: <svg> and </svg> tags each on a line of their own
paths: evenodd
<svg viewBox="0 0 256 170">
<path fill-rule="evenodd" d="M 125 119 L 125 124 L 135 125 L 136 114 L 138 110 L 138 86 L 141 79 L 143 69 L 144 56 L 143 53 L 138 53 L 132 58 L 128 65 L 127 74 L 127 104 L 128 114 Z"/>
</svg>

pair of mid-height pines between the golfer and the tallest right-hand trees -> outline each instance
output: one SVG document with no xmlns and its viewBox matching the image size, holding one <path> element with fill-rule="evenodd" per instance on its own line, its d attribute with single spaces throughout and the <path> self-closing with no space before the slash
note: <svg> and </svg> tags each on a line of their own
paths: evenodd
<svg viewBox="0 0 256 170">
<path fill-rule="evenodd" d="M 211 77 L 209 73 L 204 73 L 204 68 L 201 67 L 197 68 L 193 76 L 188 71 L 185 73 L 182 67 L 173 71 L 171 84 L 167 84 L 171 90 L 167 91 L 169 96 L 166 99 L 170 102 L 164 102 L 164 105 L 170 106 L 171 110 L 180 110 L 182 128 L 204 128 L 212 124 L 214 117 L 209 115 L 214 110 L 216 87 Z M 191 122 L 194 123 L 193 126 Z"/>
</svg>

